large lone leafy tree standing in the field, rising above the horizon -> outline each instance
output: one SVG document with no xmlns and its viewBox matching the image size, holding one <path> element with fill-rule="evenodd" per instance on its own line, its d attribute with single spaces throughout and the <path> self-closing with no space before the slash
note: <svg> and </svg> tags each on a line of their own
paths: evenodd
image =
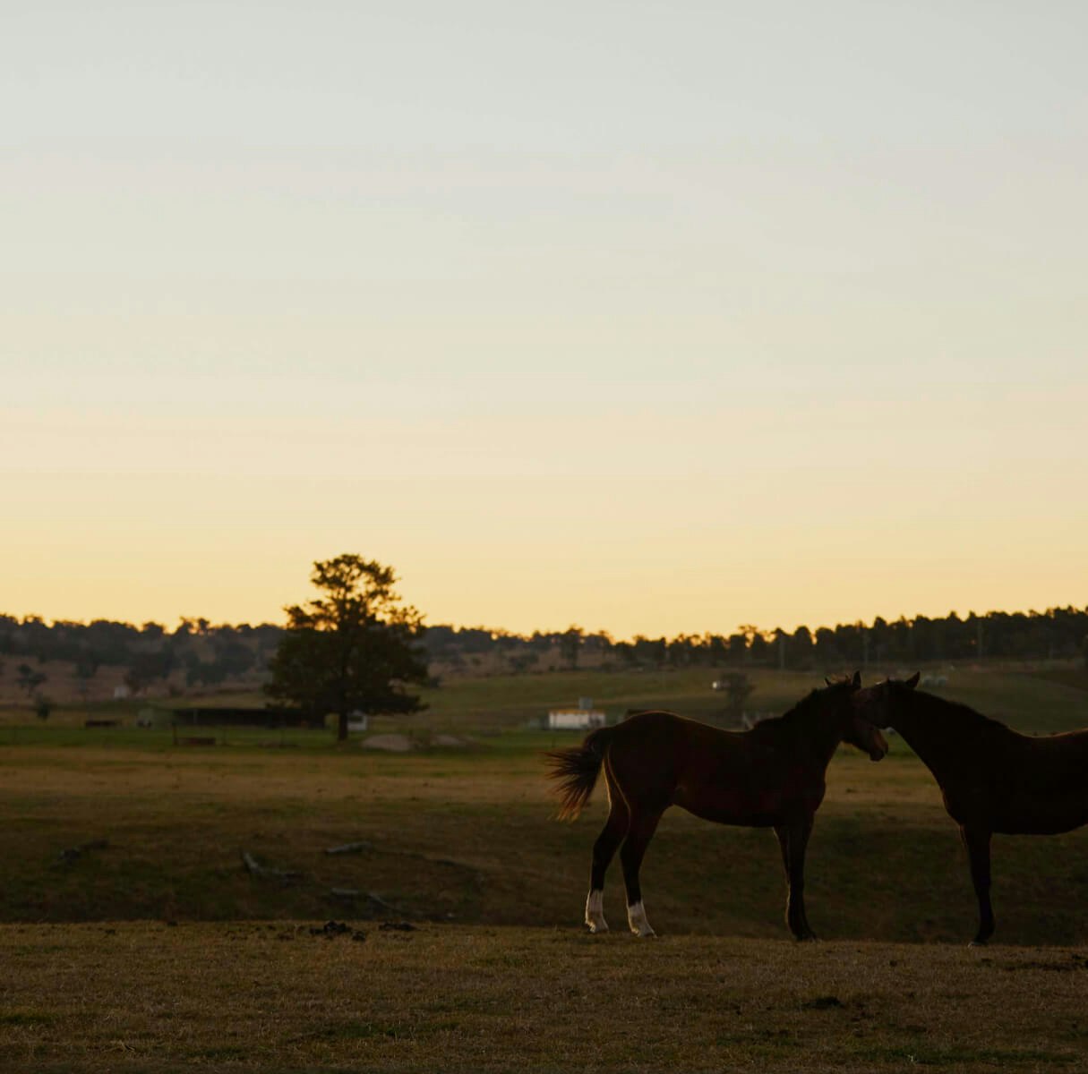
<svg viewBox="0 0 1088 1074">
<path fill-rule="evenodd" d="M 268 694 L 335 713 L 347 738 L 353 712 L 405 713 L 422 708 L 410 684 L 426 682 L 422 615 L 394 591 L 392 567 L 343 554 L 313 564 L 319 597 L 285 609 L 287 628 L 270 665 Z"/>
</svg>

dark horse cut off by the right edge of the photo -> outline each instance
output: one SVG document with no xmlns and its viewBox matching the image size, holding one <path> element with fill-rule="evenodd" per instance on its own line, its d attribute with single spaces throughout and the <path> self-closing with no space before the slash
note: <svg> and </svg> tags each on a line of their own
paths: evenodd
<svg viewBox="0 0 1088 1074">
<path fill-rule="evenodd" d="M 1021 735 L 965 704 L 916 690 L 917 674 L 856 695 L 858 713 L 894 727 L 944 795 L 978 896 L 974 945 L 993 935 L 990 836 L 1053 835 L 1088 823 L 1088 730 Z"/>
</svg>

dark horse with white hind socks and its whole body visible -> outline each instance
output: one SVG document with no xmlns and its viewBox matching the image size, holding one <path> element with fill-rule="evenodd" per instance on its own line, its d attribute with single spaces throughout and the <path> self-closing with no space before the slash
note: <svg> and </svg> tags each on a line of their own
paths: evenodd
<svg viewBox="0 0 1088 1074">
<path fill-rule="evenodd" d="M 642 906 L 639 866 L 657 822 L 680 806 L 719 824 L 772 827 L 789 883 L 786 920 L 798 939 L 815 939 L 805 917 L 805 847 L 824 800 L 828 762 L 840 741 L 874 761 L 888 751 L 880 732 L 852 704 L 861 675 L 813 690 L 784 716 L 747 732 L 719 730 L 671 712 L 642 712 L 588 735 L 581 746 L 548 754 L 559 780 L 560 819 L 573 820 L 589 801 L 601 769 L 608 820 L 593 845 L 585 924 L 607 931 L 605 870 L 620 849 L 627 920 L 636 936 L 653 936 Z"/>
</svg>

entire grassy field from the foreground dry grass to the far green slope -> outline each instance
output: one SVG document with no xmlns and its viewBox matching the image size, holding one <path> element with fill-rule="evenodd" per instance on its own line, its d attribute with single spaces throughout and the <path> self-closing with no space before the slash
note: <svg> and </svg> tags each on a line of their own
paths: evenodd
<svg viewBox="0 0 1088 1074">
<path fill-rule="evenodd" d="M 526 729 L 526 714 L 581 694 L 690 712 L 713 696 L 705 673 L 556 678 L 452 684 L 409 729 L 473 745 L 409 754 L 320 733 L 176 748 L 170 732 L 9 714 L 0 1070 L 1085 1062 L 1085 833 L 996 838 L 1000 946 L 968 952 L 956 832 L 900 740 L 880 764 L 843 749 L 829 770 L 806 898 L 830 942 L 787 939 L 770 834 L 679 811 L 643 869 L 660 940 L 618 927 L 615 866 L 615 932 L 583 936 L 603 796 L 574 824 L 552 820 L 541 750 L 580 736 Z M 753 704 L 784 708 L 816 682 L 761 677 Z M 1088 691 L 1061 676 L 965 672 L 948 692 L 1021 729 L 1088 726 Z M 254 875 L 243 852 L 292 875 Z M 367 938 L 310 934 L 329 920 Z"/>
</svg>

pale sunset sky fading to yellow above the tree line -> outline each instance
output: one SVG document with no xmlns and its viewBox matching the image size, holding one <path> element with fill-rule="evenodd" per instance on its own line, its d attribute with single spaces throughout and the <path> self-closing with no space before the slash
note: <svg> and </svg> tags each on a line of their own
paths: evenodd
<svg viewBox="0 0 1088 1074">
<path fill-rule="evenodd" d="M 1088 604 L 1088 7 L 0 25 L 0 611 Z"/>
</svg>

